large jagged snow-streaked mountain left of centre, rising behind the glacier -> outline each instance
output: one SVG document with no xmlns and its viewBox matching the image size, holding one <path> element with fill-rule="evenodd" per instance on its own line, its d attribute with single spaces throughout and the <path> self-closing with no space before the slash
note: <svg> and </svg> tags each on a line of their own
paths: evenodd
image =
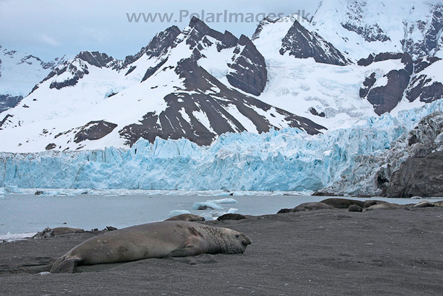
<svg viewBox="0 0 443 296">
<path fill-rule="evenodd" d="M 33 152 L 129 147 L 143 137 L 184 137 L 208 145 L 225 132 L 325 130 L 254 96 L 266 63 L 248 37 L 192 19 L 140 53 L 115 60 L 82 52 L 55 67 L 17 107 L 0 114 L 1 150 Z"/>
</svg>

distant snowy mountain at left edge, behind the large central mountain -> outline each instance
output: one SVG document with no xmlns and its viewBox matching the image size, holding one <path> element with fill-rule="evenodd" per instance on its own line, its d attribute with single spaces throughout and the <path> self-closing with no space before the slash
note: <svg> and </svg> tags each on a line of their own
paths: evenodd
<svg viewBox="0 0 443 296">
<path fill-rule="evenodd" d="M 34 55 L 10 51 L 0 45 L 0 113 L 15 107 L 64 59 L 43 62 Z"/>
</svg>

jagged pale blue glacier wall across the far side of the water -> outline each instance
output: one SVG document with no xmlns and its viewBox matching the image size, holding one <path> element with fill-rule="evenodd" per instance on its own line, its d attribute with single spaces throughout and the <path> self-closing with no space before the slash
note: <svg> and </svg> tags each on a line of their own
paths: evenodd
<svg viewBox="0 0 443 296">
<path fill-rule="evenodd" d="M 210 146 L 157 138 L 139 139 L 129 149 L 0 153 L 0 187 L 317 191 L 348 177 L 361 157 L 386 153 L 420 119 L 442 110 L 443 102 L 435 101 L 315 136 L 286 128 L 222 134 Z M 373 183 L 364 180 L 345 193 L 370 191 Z"/>
</svg>

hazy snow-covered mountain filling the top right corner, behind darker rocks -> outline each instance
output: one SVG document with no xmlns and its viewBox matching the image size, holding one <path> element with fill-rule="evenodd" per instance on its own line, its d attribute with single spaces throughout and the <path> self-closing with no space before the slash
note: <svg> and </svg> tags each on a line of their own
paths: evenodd
<svg viewBox="0 0 443 296">
<path fill-rule="evenodd" d="M 310 24 L 325 40 L 359 60 L 371 53 L 442 57 L 443 5 L 427 1 L 322 1 Z"/>
</svg>

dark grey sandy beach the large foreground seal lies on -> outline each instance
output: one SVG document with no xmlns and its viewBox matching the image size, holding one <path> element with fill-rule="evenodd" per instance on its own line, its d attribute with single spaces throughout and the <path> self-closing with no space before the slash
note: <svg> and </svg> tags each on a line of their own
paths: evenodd
<svg viewBox="0 0 443 296">
<path fill-rule="evenodd" d="M 322 210 L 206 222 L 244 254 L 147 259 L 33 275 L 96 234 L 0 244 L 1 295 L 441 295 L 443 208 Z"/>
</svg>

